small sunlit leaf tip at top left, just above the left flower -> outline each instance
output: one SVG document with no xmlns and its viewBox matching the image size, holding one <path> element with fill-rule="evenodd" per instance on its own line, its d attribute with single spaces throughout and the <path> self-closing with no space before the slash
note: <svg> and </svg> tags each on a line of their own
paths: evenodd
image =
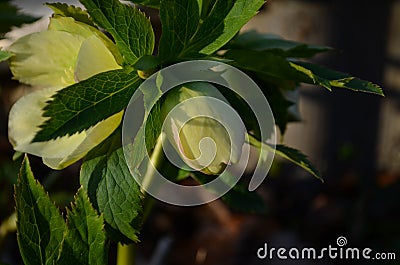
<svg viewBox="0 0 400 265">
<path fill-rule="evenodd" d="M 68 5 L 65 3 L 46 3 L 47 7 L 53 10 L 53 16 L 72 17 L 76 21 L 94 26 L 93 21 L 90 19 L 89 14 L 82 10 L 80 7 Z"/>
</svg>

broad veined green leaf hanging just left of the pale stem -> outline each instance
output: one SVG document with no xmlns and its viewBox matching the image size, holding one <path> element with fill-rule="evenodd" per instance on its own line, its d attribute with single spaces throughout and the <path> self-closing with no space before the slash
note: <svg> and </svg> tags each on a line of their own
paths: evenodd
<svg viewBox="0 0 400 265">
<path fill-rule="evenodd" d="M 130 240 L 138 241 L 142 195 L 126 165 L 120 129 L 87 155 L 80 181 L 105 221 Z"/>
</svg>

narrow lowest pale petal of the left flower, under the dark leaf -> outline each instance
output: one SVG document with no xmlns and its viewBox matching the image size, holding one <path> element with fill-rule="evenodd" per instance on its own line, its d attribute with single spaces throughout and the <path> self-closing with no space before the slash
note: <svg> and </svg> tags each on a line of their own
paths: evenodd
<svg viewBox="0 0 400 265">
<path fill-rule="evenodd" d="M 68 156 L 43 157 L 43 162 L 53 169 L 63 169 L 83 158 L 93 147 L 105 140 L 121 123 L 123 111 L 114 114 L 83 132 L 84 140 Z M 62 146 L 62 143 L 59 143 Z"/>
</svg>

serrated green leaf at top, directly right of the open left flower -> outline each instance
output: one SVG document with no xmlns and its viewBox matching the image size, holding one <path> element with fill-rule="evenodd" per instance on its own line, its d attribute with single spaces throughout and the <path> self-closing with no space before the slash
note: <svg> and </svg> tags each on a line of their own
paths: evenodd
<svg viewBox="0 0 400 265">
<path fill-rule="evenodd" d="M 139 9 L 118 0 L 80 1 L 94 22 L 113 36 L 126 64 L 153 53 L 153 28 Z"/>
</svg>

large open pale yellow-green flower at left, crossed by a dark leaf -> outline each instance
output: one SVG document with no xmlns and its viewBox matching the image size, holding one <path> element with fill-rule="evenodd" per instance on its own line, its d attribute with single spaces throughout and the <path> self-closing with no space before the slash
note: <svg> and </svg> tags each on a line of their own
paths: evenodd
<svg viewBox="0 0 400 265">
<path fill-rule="evenodd" d="M 10 111 L 9 140 L 15 150 L 40 156 L 49 167 L 62 169 L 84 157 L 118 127 L 122 112 L 74 135 L 32 142 L 46 120 L 42 109 L 58 90 L 121 68 L 115 44 L 101 31 L 70 17 L 55 17 L 48 30 L 18 39 L 8 51 L 14 54 L 10 59 L 14 78 L 41 88 L 19 99 Z"/>
</svg>

